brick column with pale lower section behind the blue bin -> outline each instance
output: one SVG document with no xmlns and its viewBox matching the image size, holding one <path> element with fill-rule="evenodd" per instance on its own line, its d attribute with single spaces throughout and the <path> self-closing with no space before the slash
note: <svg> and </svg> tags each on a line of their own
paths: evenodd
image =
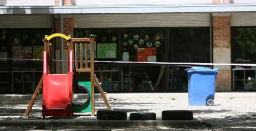
<svg viewBox="0 0 256 131">
<path fill-rule="evenodd" d="M 213 13 L 213 63 L 231 63 L 230 13 Z M 231 91 L 231 66 L 219 68 L 216 91 Z"/>
</svg>

